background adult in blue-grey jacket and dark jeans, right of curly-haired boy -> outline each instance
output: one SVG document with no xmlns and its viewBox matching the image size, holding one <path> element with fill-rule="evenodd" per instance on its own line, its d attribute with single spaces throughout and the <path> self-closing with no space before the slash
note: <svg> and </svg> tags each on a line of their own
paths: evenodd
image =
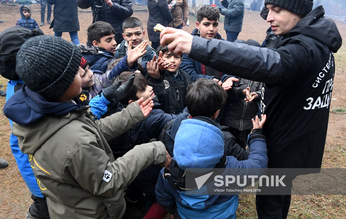
<svg viewBox="0 0 346 219">
<path fill-rule="evenodd" d="M 243 28 L 244 1 L 243 0 L 220 0 L 222 6 L 221 15 L 225 15 L 224 30 L 226 30 L 227 41 L 234 42 Z"/>
</svg>

